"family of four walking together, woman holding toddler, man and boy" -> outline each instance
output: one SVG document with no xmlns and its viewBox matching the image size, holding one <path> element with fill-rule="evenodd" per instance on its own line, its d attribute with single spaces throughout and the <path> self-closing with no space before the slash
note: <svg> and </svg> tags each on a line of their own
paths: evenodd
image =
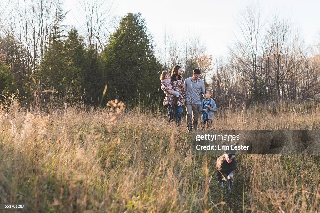
<svg viewBox="0 0 320 213">
<path fill-rule="evenodd" d="M 171 74 L 163 71 L 160 76 L 161 89 L 166 94 L 163 105 L 168 109 L 169 122 L 174 120 L 180 126 L 182 116 L 182 106 L 187 110 L 188 132 L 196 130 L 198 127 L 199 112 L 201 115 L 201 127 L 211 125 L 213 112 L 216 111 L 216 104 L 211 98 L 212 90 L 204 89 L 204 81 L 200 79 L 201 71 L 194 69 L 192 77 L 183 80 L 181 76 L 182 68 L 174 66 Z M 204 99 L 201 101 L 201 95 Z"/>
</svg>

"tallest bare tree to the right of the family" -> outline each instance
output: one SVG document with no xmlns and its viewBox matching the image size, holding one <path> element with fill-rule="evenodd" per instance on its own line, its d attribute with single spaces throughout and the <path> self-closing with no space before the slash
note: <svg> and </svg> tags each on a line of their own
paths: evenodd
<svg viewBox="0 0 320 213">
<path fill-rule="evenodd" d="M 252 4 L 240 11 L 237 25 L 241 37 L 236 37 L 229 50 L 232 64 L 247 89 L 246 97 L 258 99 L 262 94 L 262 70 L 258 57 L 261 53 L 261 10 L 259 4 Z M 250 91 L 250 93 L 249 93 Z"/>
</svg>

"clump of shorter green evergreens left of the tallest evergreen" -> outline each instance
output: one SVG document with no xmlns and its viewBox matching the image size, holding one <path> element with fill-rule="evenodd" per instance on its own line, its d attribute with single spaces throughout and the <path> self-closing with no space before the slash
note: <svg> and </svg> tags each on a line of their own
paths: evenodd
<svg viewBox="0 0 320 213">
<path fill-rule="evenodd" d="M 84 103 L 99 103 L 105 82 L 101 57 L 94 49 L 85 50 L 75 29 L 68 37 L 52 40 L 41 69 L 42 89 L 56 89 L 60 97 Z"/>
</svg>

